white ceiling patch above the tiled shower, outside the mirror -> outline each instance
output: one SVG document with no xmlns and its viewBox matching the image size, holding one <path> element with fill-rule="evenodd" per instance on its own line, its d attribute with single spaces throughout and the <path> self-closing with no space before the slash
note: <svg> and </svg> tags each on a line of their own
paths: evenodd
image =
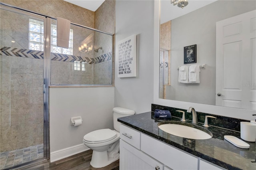
<svg viewBox="0 0 256 170">
<path fill-rule="evenodd" d="M 95 12 L 105 0 L 64 0 Z"/>
</svg>

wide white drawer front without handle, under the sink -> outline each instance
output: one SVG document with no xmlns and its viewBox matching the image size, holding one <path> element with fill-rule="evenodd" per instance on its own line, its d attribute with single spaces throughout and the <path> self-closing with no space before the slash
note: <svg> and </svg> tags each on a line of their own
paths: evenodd
<svg viewBox="0 0 256 170">
<path fill-rule="evenodd" d="M 198 158 L 178 148 L 165 144 L 146 134 L 141 134 L 141 149 L 174 170 L 196 170 Z"/>
</svg>

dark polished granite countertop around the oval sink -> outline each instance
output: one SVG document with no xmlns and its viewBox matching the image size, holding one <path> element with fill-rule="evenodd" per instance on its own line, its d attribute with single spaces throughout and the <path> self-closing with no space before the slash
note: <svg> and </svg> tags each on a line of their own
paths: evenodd
<svg viewBox="0 0 256 170">
<path fill-rule="evenodd" d="M 242 149 L 224 140 L 224 135 L 232 135 L 240 138 L 240 132 L 238 131 L 210 126 L 207 129 L 212 132 L 212 138 L 195 140 L 174 136 L 159 129 L 158 123 L 163 120 L 155 119 L 154 112 L 121 117 L 118 118 L 118 121 L 223 168 L 232 170 L 256 170 L 256 163 L 253 162 L 256 158 L 255 142 L 245 141 L 250 144 L 250 148 Z M 180 118 L 172 117 L 172 119 L 168 121 L 180 121 Z M 193 125 L 190 121 L 186 123 L 190 123 L 192 127 L 197 126 Z M 203 124 L 198 123 L 198 126 L 204 128 L 202 125 Z"/>
</svg>

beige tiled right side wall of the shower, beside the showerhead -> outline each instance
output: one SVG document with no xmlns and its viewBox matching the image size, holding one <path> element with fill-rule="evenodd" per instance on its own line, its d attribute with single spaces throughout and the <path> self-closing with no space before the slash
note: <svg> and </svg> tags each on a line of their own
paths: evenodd
<svg viewBox="0 0 256 170">
<path fill-rule="evenodd" d="M 105 32 L 115 33 L 115 21 L 116 21 L 116 1 L 105 0 L 103 4 L 95 11 L 95 28 Z M 114 43 L 114 42 L 113 42 Z M 112 49 L 112 40 L 109 36 L 99 34 L 94 35 L 95 48 L 102 47 L 98 53 L 94 52 L 94 58 L 100 57 L 104 54 L 109 54 L 114 51 Z M 114 53 L 112 53 L 112 56 Z M 104 62 L 94 64 L 94 84 L 111 84 L 112 83 L 112 59 L 105 59 Z"/>
</svg>

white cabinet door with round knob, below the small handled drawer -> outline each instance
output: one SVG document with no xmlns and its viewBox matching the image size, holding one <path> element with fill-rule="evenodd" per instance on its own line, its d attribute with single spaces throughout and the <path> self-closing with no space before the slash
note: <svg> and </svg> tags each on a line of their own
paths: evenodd
<svg viewBox="0 0 256 170">
<path fill-rule="evenodd" d="M 159 167 L 159 168 L 158 168 Z M 164 165 L 120 139 L 120 170 L 164 170 Z"/>
</svg>

